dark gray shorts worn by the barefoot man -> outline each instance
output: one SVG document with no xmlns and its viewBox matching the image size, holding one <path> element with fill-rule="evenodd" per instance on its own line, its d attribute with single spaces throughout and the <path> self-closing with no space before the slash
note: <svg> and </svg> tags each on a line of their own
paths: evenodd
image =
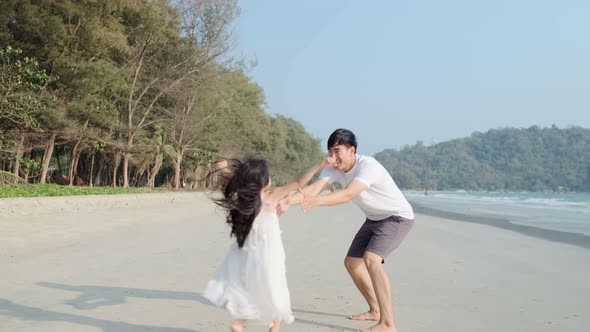
<svg viewBox="0 0 590 332">
<path fill-rule="evenodd" d="M 385 260 L 402 243 L 413 225 L 413 219 L 399 216 L 383 220 L 367 219 L 352 240 L 346 256 L 361 258 L 365 251 L 370 251 Z"/>
</svg>

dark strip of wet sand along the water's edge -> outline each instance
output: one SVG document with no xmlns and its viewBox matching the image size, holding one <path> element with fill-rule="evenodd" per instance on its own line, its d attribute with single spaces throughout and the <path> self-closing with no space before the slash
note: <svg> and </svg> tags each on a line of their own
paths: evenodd
<svg viewBox="0 0 590 332">
<path fill-rule="evenodd" d="M 528 225 L 520 225 L 510 222 L 508 219 L 482 217 L 469 214 L 462 214 L 456 212 L 443 211 L 426 207 L 420 203 L 408 199 L 412 205 L 414 212 L 424 214 L 432 217 L 440 217 L 447 220 L 455 220 L 469 223 L 476 223 L 481 225 L 489 225 L 502 229 L 518 232 L 520 234 L 536 237 L 552 242 L 566 243 L 582 247 L 590 250 L 590 236 L 580 233 L 563 232 L 546 228 L 533 227 Z"/>
</svg>

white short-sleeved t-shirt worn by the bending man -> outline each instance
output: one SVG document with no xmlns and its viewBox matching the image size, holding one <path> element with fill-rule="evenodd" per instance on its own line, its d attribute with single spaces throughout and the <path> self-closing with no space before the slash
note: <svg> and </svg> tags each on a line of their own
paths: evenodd
<svg viewBox="0 0 590 332">
<path fill-rule="evenodd" d="M 322 170 L 319 178 L 329 184 L 338 182 L 343 187 L 347 187 L 353 180 L 363 183 L 367 188 L 352 201 L 368 219 L 382 220 L 391 216 L 414 219 L 412 206 L 389 172 L 373 157 L 357 154 L 356 163 L 348 172 L 327 167 Z"/>
</svg>

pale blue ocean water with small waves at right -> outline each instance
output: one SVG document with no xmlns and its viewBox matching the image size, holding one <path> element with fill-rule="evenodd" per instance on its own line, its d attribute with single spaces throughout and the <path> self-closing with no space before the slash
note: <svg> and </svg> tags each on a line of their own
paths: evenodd
<svg viewBox="0 0 590 332">
<path fill-rule="evenodd" d="M 436 210 L 590 235 L 590 193 L 404 191 L 404 195 Z"/>
</svg>

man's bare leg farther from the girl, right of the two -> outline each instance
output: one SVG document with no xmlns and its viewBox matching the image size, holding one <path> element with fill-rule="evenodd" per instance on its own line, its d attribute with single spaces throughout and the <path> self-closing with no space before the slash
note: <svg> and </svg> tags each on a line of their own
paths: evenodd
<svg viewBox="0 0 590 332">
<path fill-rule="evenodd" d="M 379 312 L 381 317 L 376 325 L 371 326 L 363 332 L 397 332 L 393 321 L 393 305 L 391 303 L 391 284 L 383 269 L 382 257 L 369 251 L 365 251 L 363 261 L 371 277 Z"/>
</svg>

